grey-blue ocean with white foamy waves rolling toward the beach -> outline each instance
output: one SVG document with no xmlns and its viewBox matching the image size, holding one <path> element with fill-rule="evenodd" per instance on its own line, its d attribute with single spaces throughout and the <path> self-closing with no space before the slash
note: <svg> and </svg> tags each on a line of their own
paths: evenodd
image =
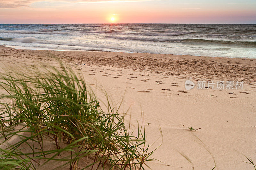
<svg viewBox="0 0 256 170">
<path fill-rule="evenodd" d="M 21 49 L 256 58 L 256 25 L 0 25 L 0 44 Z"/>
</svg>

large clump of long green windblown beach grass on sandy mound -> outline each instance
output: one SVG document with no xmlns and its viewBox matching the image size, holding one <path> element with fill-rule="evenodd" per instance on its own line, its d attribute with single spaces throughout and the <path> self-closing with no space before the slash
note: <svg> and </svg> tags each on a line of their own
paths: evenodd
<svg viewBox="0 0 256 170">
<path fill-rule="evenodd" d="M 144 125 L 131 131 L 110 102 L 103 111 L 78 75 L 61 63 L 1 74 L 0 169 L 144 169 L 152 160 Z"/>
</svg>

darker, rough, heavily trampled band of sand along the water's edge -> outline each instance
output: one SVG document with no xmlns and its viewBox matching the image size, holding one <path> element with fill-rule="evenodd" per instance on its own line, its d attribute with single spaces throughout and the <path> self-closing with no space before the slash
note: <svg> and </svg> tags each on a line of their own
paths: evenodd
<svg viewBox="0 0 256 170">
<path fill-rule="evenodd" d="M 57 57 L 61 61 L 73 64 L 151 70 L 155 73 L 192 78 L 194 80 L 243 80 L 250 85 L 256 84 L 256 59 L 251 58 L 102 51 L 26 50 L 14 48 L 4 48 L 2 50 L 2 56 L 10 55 L 8 54 L 10 51 L 20 53 L 22 56 L 26 56 L 26 58 L 44 61 L 49 61 L 52 60 L 52 57 Z M 45 56 L 48 57 L 45 58 Z"/>
</svg>

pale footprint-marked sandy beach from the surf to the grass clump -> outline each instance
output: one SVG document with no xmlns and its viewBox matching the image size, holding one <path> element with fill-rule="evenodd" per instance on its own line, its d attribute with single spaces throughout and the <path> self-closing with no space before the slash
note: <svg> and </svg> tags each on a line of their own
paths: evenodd
<svg viewBox="0 0 256 170">
<path fill-rule="evenodd" d="M 82 74 L 103 101 L 102 87 L 114 103 L 123 98 L 126 122 L 131 116 L 132 125 L 145 124 L 147 142 L 156 141 L 152 150 L 163 141 L 152 169 L 212 169 L 214 160 L 216 169 L 253 169 L 243 161 L 246 155 L 256 162 L 256 59 L 0 49 L 1 65 L 59 67 L 52 57 Z M 244 87 L 186 90 L 186 80 L 244 81 Z"/>
</svg>

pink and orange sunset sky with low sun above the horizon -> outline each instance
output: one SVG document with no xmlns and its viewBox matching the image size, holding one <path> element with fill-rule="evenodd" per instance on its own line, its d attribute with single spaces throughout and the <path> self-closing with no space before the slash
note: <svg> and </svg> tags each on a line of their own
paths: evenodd
<svg viewBox="0 0 256 170">
<path fill-rule="evenodd" d="M 256 24 L 256 0 L 0 0 L 0 24 L 53 23 Z"/>
</svg>

